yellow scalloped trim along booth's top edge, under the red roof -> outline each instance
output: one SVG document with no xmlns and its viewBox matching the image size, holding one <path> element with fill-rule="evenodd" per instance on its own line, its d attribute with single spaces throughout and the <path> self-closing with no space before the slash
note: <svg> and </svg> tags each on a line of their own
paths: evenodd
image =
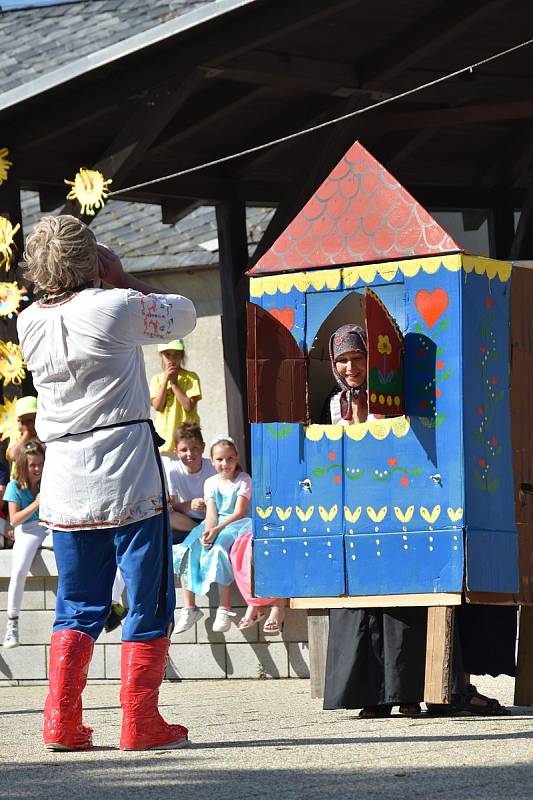
<svg viewBox="0 0 533 800">
<path fill-rule="evenodd" d="M 350 288 L 360 280 L 364 283 L 372 283 L 377 275 L 386 281 L 392 281 L 398 272 L 408 278 L 413 278 L 420 270 L 428 275 L 434 275 L 441 267 L 449 272 L 459 272 L 462 267 L 465 272 L 487 275 L 491 280 L 498 277 L 502 283 L 505 283 L 511 277 L 512 265 L 509 261 L 496 261 L 482 256 L 466 256 L 462 253 L 455 253 L 451 256 L 409 258 L 404 261 L 389 261 L 385 264 L 361 264 L 343 269 L 319 269 L 311 272 L 289 272 L 283 275 L 250 278 L 250 295 L 262 297 L 264 294 L 273 295 L 276 292 L 288 294 L 294 288 L 305 292 L 310 287 L 317 291 L 334 290 L 338 289 L 341 283 L 346 288 Z"/>
</svg>

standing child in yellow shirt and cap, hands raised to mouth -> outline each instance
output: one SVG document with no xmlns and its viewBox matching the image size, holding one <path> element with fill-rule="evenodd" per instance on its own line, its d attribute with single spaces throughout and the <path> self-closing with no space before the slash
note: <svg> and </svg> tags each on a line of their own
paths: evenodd
<svg viewBox="0 0 533 800">
<path fill-rule="evenodd" d="M 200 424 L 197 405 L 202 399 L 200 378 L 183 369 L 185 347 L 182 339 L 158 345 L 163 372 L 150 381 L 150 400 L 156 410 L 155 428 L 165 440 L 162 454 L 174 452 L 174 432 L 184 422 Z"/>
</svg>

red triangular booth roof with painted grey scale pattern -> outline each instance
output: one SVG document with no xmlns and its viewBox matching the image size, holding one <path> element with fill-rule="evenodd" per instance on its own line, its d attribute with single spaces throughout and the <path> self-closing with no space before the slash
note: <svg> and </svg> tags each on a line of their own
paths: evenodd
<svg viewBox="0 0 533 800">
<path fill-rule="evenodd" d="M 355 142 L 248 274 L 367 264 L 462 249 Z"/>
</svg>

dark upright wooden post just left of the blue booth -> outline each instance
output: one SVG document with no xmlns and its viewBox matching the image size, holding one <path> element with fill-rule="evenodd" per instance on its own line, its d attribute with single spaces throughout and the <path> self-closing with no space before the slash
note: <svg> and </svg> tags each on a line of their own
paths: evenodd
<svg viewBox="0 0 533 800">
<path fill-rule="evenodd" d="M 216 207 L 222 339 L 226 377 L 229 433 L 235 439 L 241 465 L 250 463 L 250 428 L 246 401 L 246 279 L 248 237 L 246 207 L 242 202 Z"/>
</svg>

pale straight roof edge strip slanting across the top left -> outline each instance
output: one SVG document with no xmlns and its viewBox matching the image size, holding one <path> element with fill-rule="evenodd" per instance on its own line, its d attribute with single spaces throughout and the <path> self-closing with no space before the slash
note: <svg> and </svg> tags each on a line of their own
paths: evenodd
<svg viewBox="0 0 533 800">
<path fill-rule="evenodd" d="M 31 97 L 35 97 L 42 92 L 67 83 L 67 81 L 78 78 L 80 75 L 105 66 L 112 61 L 117 61 L 129 53 L 134 53 L 138 50 L 142 50 L 144 47 L 150 47 L 157 42 L 170 39 L 172 36 L 176 36 L 176 34 L 183 33 L 204 22 L 216 19 L 216 17 L 221 17 L 229 11 L 234 11 L 237 8 L 251 5 L 255 2 L 256 0 L 214 0 L 214 2 L 196 11 L 182 14 L 175 19 L 161 23 L 161 25 L 148 28 L 148 30 L 138 33 L 135 36 L 130 36 L 128 39 L 124 39 L 124 41 L 118 44 L 104 47 L 103 50 L 97 50 L 96 53 L 84 56 L 46 75 L 41 75 L 35 80 L 28 81 L 21 86 L 4 92 L 0 95 L 0 111 L 12 108 L 19 103 L 23 103 L 25 100 L 29 100 Z"/>
</svg>

